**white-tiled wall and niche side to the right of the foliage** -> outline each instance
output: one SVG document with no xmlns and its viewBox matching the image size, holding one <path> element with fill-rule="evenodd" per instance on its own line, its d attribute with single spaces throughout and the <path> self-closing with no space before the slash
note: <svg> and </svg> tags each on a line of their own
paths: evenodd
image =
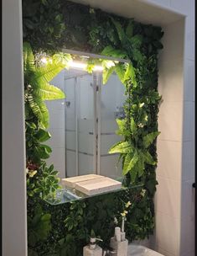
<svg viewBox="0 0 197 256">
<path fill-rule="evenodd" d="M 163 27 L 156 228 L 150 242 L 166 256 L 194 256 L 194 1 L 144 2 L 186 16 Z"/>
</svg>

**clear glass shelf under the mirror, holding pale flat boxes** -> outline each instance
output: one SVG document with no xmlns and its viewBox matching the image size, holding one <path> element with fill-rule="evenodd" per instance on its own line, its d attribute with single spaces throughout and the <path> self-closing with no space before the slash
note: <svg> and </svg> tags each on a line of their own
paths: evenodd
<svg viewBox="0 0 197 256">
<path fill-rule="evenodd" d="M 121 181 L 120 179 L 117 179 L 118 181 Z M 81 193 L 79 190 L 72 189 L 70 187 L 67 187 L 65 185 L 61 185 L 61 189 L 57 189 L 55 195 L 54 194 L 49 194 L 47 197 L 44 198 L 44 201 L 46 201 L 49 205 L 62 205 L 65 203 L 69 203 L 75 200 L 84 200 L 88 199 L 91 197 L 95 197 L 98 195 L 106 195 L 110 193 L 115 193 L 118 191 L 124 191 L 127 189 L 135 189 L 135 188 L 140 188 L 143 187 L 143 184 L 137 184 L 137 185 L 130 185 L 128 187 L 125 187 L 122 185 L 121 189 L 114 189 L 111 191 L 99 193 L 96 195 L 86 195 Z"/>
</svg>

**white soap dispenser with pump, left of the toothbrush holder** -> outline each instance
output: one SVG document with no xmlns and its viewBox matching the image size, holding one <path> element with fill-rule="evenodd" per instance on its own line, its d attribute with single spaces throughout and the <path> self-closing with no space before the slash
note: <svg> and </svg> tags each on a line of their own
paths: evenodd
<svg viewBox="0 0 197 256">
<path fill-rule="evenodd" d="M 96 244 L 100 238 L 91 237 L 90 244 L 83 248 L 83 256 L 102 256 L 102 248 Z"/>
</svg>

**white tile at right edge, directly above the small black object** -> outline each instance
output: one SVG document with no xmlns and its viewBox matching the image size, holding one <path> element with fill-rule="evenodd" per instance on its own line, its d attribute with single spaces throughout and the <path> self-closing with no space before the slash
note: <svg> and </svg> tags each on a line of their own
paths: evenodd
<svg viewBox="0 0 197 256">
<path fill-rule="evenodd" d="M 182 180 L 194 179 L 195 176 L 194 141 L 184 141 L 182 149 Z"/>
</svg>

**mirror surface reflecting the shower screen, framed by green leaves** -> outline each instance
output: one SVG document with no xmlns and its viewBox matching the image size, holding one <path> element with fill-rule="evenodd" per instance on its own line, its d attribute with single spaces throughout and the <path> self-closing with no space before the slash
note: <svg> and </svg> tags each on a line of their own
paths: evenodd
<svg viewBox="0 0 197 256">
<path fill-rule="evenodd" d="M 70 69 L 56 78 L 53 84 L 59 85 L 62 79 L 60 88 L 65 91 L 66 98 L 47 105 L 52 135 L 50 146 L 53 149 L 50 161 L 60 169 L 60 177 L 89 173 L 111 178 L 121 176 L 121 166 L 116 167 L 118 155 L 108 154 L 109 148 L 121 139 L 115 133 L 116 118 L 123 116 L 125 96 L 124 86 L 117 75 L 111 75 L 103 86 L 101 72 L 88 74 Z M 56 116 L 62 124 L 60 129 L 58 122 L 53 124 L 55 111 L 60 115 Z M 55 141 L 57 132 L 60 145 L 58 140 Z"/>
</svg>

